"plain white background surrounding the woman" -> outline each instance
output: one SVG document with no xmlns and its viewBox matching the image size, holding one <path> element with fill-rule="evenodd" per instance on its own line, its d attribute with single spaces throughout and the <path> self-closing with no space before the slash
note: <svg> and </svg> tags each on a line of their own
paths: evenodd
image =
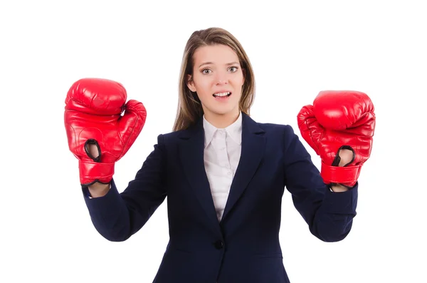
<svg viewBox="0 0 427 283">
<path fill-rule="evenodd" d="M 283 196 L 291 282 L 427 282 L 422 2 L 2 1 L 0 282 L 152 282 L 168 241 L 166 204 L 126 242 L 96 232 L 68 150 L 65 96 L 79 78 L 110 78 L 146 106 L 144 130 L 116 164 L 122 191 L 172 130 L 185 43 L 211 26 L 231 31 L 251 58 L 258 122 L 300 135 L 298 111 L 325 89 L 364 91 L 376 108 L 344 241 L 317 240 Z"/>
</svg>

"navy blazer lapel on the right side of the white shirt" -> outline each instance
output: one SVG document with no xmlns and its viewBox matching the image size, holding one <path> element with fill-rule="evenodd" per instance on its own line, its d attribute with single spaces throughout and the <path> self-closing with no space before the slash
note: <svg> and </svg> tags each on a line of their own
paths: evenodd
<svg viewBox="0 0 427 283">
<path fill-rule="evenodd" d="M 248 115 L 245 113 L 242 113 L 242 115 L 241 158 L 233 182 L 231 183 L 230 193 L 221 222 L 227 217 L 233 206 L 236 205 L 236 202 L 258 169 L 258 165 L 260 165 L 260 161 L 264 155 L 264 130 Z"/>
</svg>

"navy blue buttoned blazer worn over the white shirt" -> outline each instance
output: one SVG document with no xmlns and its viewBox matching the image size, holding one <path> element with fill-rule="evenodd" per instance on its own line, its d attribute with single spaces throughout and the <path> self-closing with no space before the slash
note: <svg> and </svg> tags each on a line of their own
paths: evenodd
<svg viewBox="0 0 427 283">
<path fill-rule="evenodd" d="M 84 189 L 93 225 L 110 241 L 135 234 L 167 198 L 169 244 L 155 283 L 289 282 L 279 242 L 285 187 L 315 237 L 334 242 L 351 230 L 358 185 L 331 192 L 290 125 L 242 115 L 241 159 L 221 222 L 204 170 L 201 119 L 159 135 L 122 193 L 114 180 L 104 197 L 89 199 Z"/>
</svg>

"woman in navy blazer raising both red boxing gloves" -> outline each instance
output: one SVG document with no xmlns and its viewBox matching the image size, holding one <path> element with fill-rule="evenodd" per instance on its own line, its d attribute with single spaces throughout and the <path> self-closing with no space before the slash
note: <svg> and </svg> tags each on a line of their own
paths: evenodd
<svg viewBox="0 0 427 283">
<path fill-rule="evenodd" d="M 121 117 L 126 92 L 112 81 L 83 79 L 70 88 L 65 126 L 97 231 L 127 240 L 167 197 L 170 240 L 154 282 L 289 282 L 278 237 L 284 187 L 313 235 L 326 242 L 348 235 L 374 132 L 369 98 L 323 92 L 298 114 L 303 137 L 322 158 L 320 175 L 289 125 L 250 118 L 254 93 L 237 39 L 223 29 L 194 32 L 174 131 L 159 135 L 119 193 L 114 163 L 137 138 L 145 108 L 130 101 Z"/>
</svg>

